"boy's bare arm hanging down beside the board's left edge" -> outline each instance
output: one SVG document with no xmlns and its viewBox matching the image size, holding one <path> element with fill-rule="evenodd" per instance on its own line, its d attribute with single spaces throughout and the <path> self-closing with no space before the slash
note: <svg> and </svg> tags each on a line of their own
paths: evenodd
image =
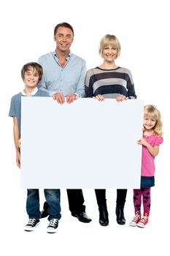
<svg viewBox="0 0 170 256">
<path fill-rule="evenodd" d="M 15 142 L 15 149 L 16 149 L 16 162 L 18 167 L 20 168 L 20 145 L 19 145 L 20 133 L 18 130 L 18 122 L 16 117 L 13 117 L 13 123 L 14 123 L 13 134 L 14 134 L 14 142 Z"/>
</svg>

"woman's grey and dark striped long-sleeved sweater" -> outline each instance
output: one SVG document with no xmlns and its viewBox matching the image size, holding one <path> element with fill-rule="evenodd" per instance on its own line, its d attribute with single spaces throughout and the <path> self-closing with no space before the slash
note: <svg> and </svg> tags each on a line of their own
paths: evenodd
<svg viewBox="0 0 170 256">
<path fill-rule="evenodd" d="M 89 69 L 85 76 L 85 97 L 93 97 L 98 94 L 112 99 L 123 94 L 129 99 L 136 99 L 130 70 L 123 67 Z"/>
</svg>

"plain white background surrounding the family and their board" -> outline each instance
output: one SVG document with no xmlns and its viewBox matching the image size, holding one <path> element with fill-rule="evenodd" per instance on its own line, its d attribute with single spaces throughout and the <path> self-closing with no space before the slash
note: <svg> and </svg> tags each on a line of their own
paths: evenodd
<svg viewBox="0 0 170 256">
<path fill-rule="evenodd" d="M 143 255 L 169 252 L 166 229 L 169 221 L 169 1 L 1 1 L 1 233 L 3 255 Z M 164 143 L 155 159 L 150 222 L 144 230 L 128 226 L 134 215 L 132 190 L 125 204 L 126 225 L 115 221 L 115 189 L 107 190 L 109 226 L 98 224 L 93 189 L 84 189 L 87 213 L 83 224 L 69 214 L 66 191 L 61 191 L 62 219 L 56 234 L 46 233 L 47 219 L 34 233 L 23 231 L 27 222 L 26 191 L 20 189 L 20 170 L 15 165 L 12 118 L 8 117 L 13 94 L 23 89 L 20 69 L 28 61 L 55 49 L 53 29 L 69 22 L 75 37 L 72 52 L 87 67 L 101 64 L 98 41 L 115 34 L 122 46 L 117 65 L 131 70 L 138 99 L 155 104 L 162 113 Z M 41 204 L 44 201 L 41 194 Z"/>
</svg>

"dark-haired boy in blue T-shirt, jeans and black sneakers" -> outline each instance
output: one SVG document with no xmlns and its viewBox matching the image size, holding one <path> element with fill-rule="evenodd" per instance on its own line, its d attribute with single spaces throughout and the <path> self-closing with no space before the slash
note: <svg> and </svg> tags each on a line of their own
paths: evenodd
<svg viewBox="0 0 170 256">
<path fill-rule="evenodd" d="M 21 77 L 25 83 L 25 89 L 11 99 L 9 116 L 13 117 L 13 132 L 16 148 L 16 162 L 20 167 L 20 112 L 21 97 L 48 97 L 47 92 L 37 89 L 37 84 L 42 79 L 42 66 L 36 62 L 25 64 L 21 69 Z M 45 199 L 49 205 L 47 233 L 55 233 L 58 220 L 61 219 L 60 192 L 59 189 L 44 189 Z M 39 211 L 39 189 L 27 189 L 26 211 L 29 217 L 24 230 L 32 231 L 39 225 L 41 213 Z"/>
</svg>

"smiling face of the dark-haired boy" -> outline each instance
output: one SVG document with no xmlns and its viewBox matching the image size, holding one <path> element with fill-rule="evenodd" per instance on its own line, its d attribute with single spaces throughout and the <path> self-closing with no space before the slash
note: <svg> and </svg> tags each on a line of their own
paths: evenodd
<svg viewBox="0 0 170 256">
<path fill-rule="evenodd" d="M 39 74 L 32 67 L 25 72 L 24 83 L 26 87 L 31 89 L 36 88 L 37 84 L 39 83 Z"/>
</svg>

